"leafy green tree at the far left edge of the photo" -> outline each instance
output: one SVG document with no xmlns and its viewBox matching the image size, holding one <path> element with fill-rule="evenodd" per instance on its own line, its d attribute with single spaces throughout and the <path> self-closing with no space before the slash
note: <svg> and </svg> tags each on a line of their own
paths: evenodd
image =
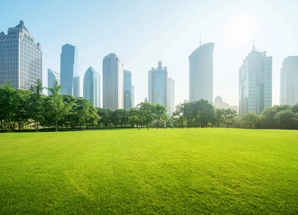
<svg viewBox="0 0 298 215">
<path fill-rule="evenodd" d="M 10 131 L 10 121 L 13 114 L 17 111 L 17 94 L 16 90 L 12 89 L 10 82 L 0 86 L 0 107 L 2 117 L 7 120 L 8 131 Z M 2 127 L 2 120 L 1 120 Z"/>
</svg>

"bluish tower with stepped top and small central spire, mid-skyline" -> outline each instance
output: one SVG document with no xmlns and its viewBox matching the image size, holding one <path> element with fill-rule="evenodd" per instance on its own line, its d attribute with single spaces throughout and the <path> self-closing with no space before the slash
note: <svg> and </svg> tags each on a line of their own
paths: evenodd
<svg viewBox="0 0 298 215">
<path fill-rule="evenodd" d="M 150 95 L 150 92 L 148 92 Z M 161 66 L 161 61 L 158 62 L 158 67 L 151 69 L 151 103 L 153 105 L 167 105 L 167 68 Z M 150 102 L 150 101 L 149 101 Z"/>
</svg>

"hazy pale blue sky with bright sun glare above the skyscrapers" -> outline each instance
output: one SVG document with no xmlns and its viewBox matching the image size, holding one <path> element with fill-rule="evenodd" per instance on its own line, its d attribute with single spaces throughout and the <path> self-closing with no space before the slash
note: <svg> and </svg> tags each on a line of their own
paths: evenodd
<svg viewBox="0 0 298 215">
<path fill-rule="evenodd" d="M 202 44 L 215 43 L 213 97 L 230 105 L 238 105 L 238 72 L 253 39 L 273 58 L 273 105 L 283 60 L 298 55 L 298 0 L 1 0 L 0 7 L 0 31 L 23 20 L 41 44 L 45 87 L 70 43 L 81 52 L 82 73 L 92 66 L 101 82 L 103 58 L 116 53 L 132 72 L 135 105 L 148 97 L 148 70 L 159 58 L 175 80 L 175 105 L 189 98 L 188 57 L 200 31 Z"/>
</svg>

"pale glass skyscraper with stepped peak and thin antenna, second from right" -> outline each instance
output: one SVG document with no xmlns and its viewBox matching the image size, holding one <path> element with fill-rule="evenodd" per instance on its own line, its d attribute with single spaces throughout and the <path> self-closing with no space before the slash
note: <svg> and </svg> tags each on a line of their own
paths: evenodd
<svg viewBox="0 0 298 215">
<path fill-rule="evenodd" d="M 271 106 L 272 57 L 253 46 L 239 69 L 239 116 Z"/>
</svg>

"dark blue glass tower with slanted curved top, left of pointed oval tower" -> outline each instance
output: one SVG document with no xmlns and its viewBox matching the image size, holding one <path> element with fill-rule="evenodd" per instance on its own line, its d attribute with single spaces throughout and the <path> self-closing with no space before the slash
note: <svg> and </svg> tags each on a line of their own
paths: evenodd
<svg viewBox="0 0 298 215">
<path fill-rule="evenodd" d="M 62 95 L 82 96 L 81 58 L 78 48 L 74 45 L 62 46 L 60 76 Z"/>
</svg>

